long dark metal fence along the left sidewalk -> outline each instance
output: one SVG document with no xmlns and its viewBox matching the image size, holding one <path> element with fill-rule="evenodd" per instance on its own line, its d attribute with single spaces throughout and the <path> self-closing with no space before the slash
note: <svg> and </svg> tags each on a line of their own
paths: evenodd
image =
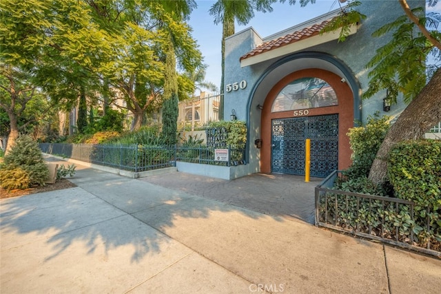
<svg viewBox="0 0 441 294">
<path fill-rule="evenodd" d="M 228 160 L 219 161 L 214 158 L 215 149 L 203 145 L 180 147 L 176 145 L 143 146 L 40 143 L 39 147 L 41 151 L 47 154 L 134 172 L 175 167 L 176 161 L 223 166 L 245 164 L 245 150 L 227 148 L 229 154 Z"/>
</svg>

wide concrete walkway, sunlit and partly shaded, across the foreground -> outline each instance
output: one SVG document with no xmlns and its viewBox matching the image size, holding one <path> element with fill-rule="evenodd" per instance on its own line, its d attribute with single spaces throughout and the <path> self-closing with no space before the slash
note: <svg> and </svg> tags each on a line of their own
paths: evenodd
<svg viewBox="0 0 441 294">
<path fill-rule="evenodd" d="M 440 291 L 441 260 L 77 169 L 78 187 L 0 200 L 1 293 Z"/>
</svg>

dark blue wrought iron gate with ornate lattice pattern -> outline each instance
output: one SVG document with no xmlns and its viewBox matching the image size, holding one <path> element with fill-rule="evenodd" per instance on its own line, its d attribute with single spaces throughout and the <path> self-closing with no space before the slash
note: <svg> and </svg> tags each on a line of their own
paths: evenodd
<svg viewBox="0 0 441 294">
<path fill-rule="evenodd" d="M 311 176 L 338 169 L 338 114 L 272 120 L 271 170 L 305 175 L 305 140 L 311 139 Z"/>
</svg>

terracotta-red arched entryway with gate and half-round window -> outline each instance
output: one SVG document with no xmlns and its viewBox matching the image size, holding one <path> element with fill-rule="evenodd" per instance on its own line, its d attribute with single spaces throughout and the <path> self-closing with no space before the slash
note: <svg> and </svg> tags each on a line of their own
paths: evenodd
<svg viewBox="0 0 441 294">
<path fill-rule="evenodd" d="M 298 70 L 280 79 L 263 104 L 260 171 L 305 172 L 305 139 L 311 139 L 311 176 L 325 177 L 351 163 L 348 129 L 353 127 L 353 93 L 327 70 Z"/>
</svg>

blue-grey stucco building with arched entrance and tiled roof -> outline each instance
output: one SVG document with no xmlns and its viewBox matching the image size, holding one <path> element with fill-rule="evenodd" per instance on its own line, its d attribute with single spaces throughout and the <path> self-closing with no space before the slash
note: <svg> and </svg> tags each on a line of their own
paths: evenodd
<svg viewBox="0 0 441 294">
<path fill-rule="evenodd" d="M 411 5 L 424 7 L 424 1 Z M 339 32 L 319 33 L 339 10 L 265 38 L 248 28 L 226 39 L 224 120 L 235 112 L 247 123 L 243 174 L 305 174 L 306 138 L 311 176 L 345 169 L 351 164 L 347 132 L 355 121 L 404 109 L 399 101 L 384 112 L 385 91 L 361 99 L 369 83 L 365 65 L 390 38 L 371 34 L 402 15 L 400 4 L 362 1 L 358 10 L 367 18 L 351 27 L 345 42 L 338 42 Z"/>
</svg>

